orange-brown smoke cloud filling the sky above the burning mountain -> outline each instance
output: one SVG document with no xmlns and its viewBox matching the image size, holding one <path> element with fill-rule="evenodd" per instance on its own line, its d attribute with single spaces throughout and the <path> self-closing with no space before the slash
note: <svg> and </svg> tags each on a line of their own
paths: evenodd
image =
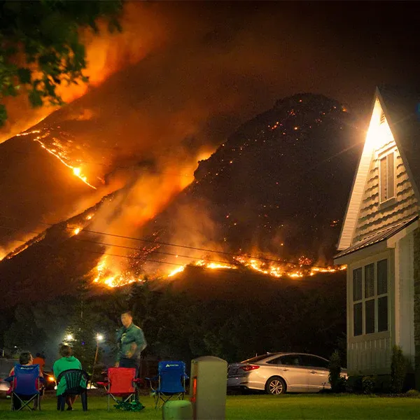
<svg viewBox="0 0 420 420">
<path fill-rule="evenodd" d="M 69 105 L 48 118 L 53 109 L 8 100 L 0 142 L 43 118 L 61 127 L 74 150 L 88 149 L 83 174 L 107 183 L 92 195 L 113 182 L 125 186 L 95 216 L 94 229 L 132 235 L 193 180 L 197 160 L 276 99 L 320 92 L 363 113 L 377 80 L 399 76 L 394 62 L 386 71 L 380 60 L 367 62 L 369 48 L 356 54 L 351 33 L 325 25 L 335 12 L 318 9 L 301 2 L 127 2 L 123 33 L 102 27 L 100 36 L 83 34 L 90 85 L 63 87 Z M 370 76 L 360 78 L 361 68 Z"/>
</svg>

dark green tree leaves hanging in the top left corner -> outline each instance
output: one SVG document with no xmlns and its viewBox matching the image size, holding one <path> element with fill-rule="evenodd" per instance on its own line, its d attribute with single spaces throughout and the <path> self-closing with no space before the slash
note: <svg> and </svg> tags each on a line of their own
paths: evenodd
<svg viewBox="0 0 420 420">
<path fill-rule="evenodd" d="M 7 119 L 7 96 L 25 87 L 32 106 L 62 105 L 57 85 L 86 83 L 86 54 L 79 29 L 97 32 L 97 20 L 120 29 L 119 0 L 0 1 L 0 125 Z"/>
</svg>

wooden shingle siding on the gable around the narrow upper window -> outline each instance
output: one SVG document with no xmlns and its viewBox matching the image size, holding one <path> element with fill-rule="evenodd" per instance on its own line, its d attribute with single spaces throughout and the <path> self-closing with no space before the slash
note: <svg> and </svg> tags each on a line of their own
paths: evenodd
<svg viewBox="0 0 420 420">
<path fill-rule="evenodd" d="M 395 141 L 386 144 L 387 148 L 394 146 Z M 352 244 L 419 212 L 414 190 L 398 150 L 395 151 L 395 204 L 389 207 L 379 205 L 379 158 L 377 155 L 378 153 L 374 153 L 370 163 Z"/>
</svg>

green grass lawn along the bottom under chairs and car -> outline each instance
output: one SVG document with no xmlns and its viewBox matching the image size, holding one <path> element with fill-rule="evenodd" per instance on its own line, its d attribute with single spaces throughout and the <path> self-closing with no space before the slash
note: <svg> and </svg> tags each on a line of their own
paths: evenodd
<svg viewBox="0 0 420 420">
<path fill-rule="evenodd" d="M 141 397 L 146 409 L 120 412 L 106 409 L 106 398 L 91 396 L 89 412 L 80 400 L 73 412 L 56 411 L 53 395 L 46 395 L 42 412 L 10 412 L 10 400 L 0 400 L 0 419 L 162 419 L 153 408 L 153 398 Z M 235 395 L 229 396 L 226 419 L 420 419 L 420 398 L 385 398 L 363 395 Z"/>
</svg>

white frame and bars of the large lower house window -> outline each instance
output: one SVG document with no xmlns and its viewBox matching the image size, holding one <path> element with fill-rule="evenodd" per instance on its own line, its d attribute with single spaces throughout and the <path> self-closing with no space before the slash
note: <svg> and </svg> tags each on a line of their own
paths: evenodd
<svg viewBox="0 0 420 420">
<path fill-rule="evenodd" d="M 378 269 L 377 264 L 379 261 L 386 260 L 386 293 L 381 295 L 377 294 L 378 287 Z M 374 294 L 370 297 L 365 297 L 365 267 L 367 265 L 374 264 Z M 353 300 L 353 270 L 362 269 L 362 298 L 360 300 Z M 368 260 L 360 261 L 358 264 L 352 264 L 349 267 L 350 271 L 350 281 L 349 281 L 349 335 L 351 339 L 360 339 L 360 337 L 374 337 L 374 335 L 382 335 L 384 333 L 388 334 L 391 330 L 391 256 L 386 254 L 377 255 L 375 258 L 370 258 Z M 387 330 L 378 331 L 378 300 L 380 297 L 388 298 L 388 307 L 387 307 Z M 374 332 L 366 333 L 366 302 L 369 300 L 374 300 Z M 360 335 L 354 335 L 354 305 L 362 303 L 362 333 Z"/>
</svg>

